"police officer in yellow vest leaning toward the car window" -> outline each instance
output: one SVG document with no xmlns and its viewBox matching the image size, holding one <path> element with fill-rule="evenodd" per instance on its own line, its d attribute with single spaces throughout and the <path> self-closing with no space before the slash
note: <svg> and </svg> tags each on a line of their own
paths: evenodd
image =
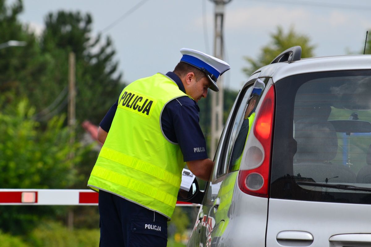
<svg viewBox="0 0 371 247">
<path fill-rule="evenodd" d="M 166 246 L 184 165 L 209 180 L 197 102 L 230 66 L 181 49 L 173 72 L 125 87 L 98 130 L 104 143 L 88 187 L 99 191 L 100 246 Z"/>
</svg>

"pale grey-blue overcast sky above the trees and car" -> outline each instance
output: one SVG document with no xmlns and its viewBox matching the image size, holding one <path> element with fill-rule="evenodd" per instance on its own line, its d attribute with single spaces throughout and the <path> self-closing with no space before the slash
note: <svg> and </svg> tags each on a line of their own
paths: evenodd
<svg viewBox="0 0 371 247">
<path fill-rule="evenodd" d="M 213 55 L 210 0 L 24 0 L 20 19 L 41 32 L 46 14 L 58 10 L 92 15 L 93 34 L 105 30 L 111 36 L 126 82 L 172 71 L 183 47 Z M 231 65 L 223 75 L 225 86 L 240 88 L 247 79 L 243 57 L 257 57 L 278 25 L 285 33 L 293 26 L 307 35 L 316 45 L 315 56 L 361 53 L 371 30 L 371 1 L 232 0 L 224 12 L 224 60 Z"/>
</svg>

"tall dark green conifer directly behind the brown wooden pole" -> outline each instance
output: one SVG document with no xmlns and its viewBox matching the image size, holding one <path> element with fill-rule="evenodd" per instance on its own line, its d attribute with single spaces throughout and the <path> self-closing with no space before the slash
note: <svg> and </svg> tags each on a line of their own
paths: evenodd
<svg viewBox="0 0 371 247">
<path fill-rule="evenodd" d="M 99 123 L 122 89 L 116 51 L 110 37 L 92 34 L 90 14 L 58 11 L 45 18 L 42 51 L 52 57 L 50 80 L 58 92 L 68 84 L 68 54 L 76 56 L 76 119 Z M 50 85 L 52 87 L 52 85 Z M 112 99 L 112 100 L 104 100 Z M 49 99 L 52 102 L 53 99 Z"/>
</svg>

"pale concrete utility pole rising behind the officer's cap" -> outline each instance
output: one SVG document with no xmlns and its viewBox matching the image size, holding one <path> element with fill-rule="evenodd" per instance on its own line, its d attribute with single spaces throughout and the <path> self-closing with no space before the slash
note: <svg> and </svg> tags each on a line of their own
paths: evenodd
<svg viewBox="0 0 371 247">
<path fill-rule="evenodd" d="M 215 3 L 214 18 L 214 57 L 223 60 L 223 17 L 224 5 L 232 0 L 211 0 Z M 223 79 L 218 78 L 219 92 L 211 92 L 211 145 L 210 156 L 213 157 L 223 130 Z"/>
</svg>

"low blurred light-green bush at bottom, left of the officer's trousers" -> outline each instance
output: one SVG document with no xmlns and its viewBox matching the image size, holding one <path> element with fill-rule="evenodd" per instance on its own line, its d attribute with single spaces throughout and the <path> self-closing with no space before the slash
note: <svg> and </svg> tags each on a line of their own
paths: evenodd
<svg viewBox="0 0 371 247">
<path fill-rule="evenodd" d="M 57 222 L 45 222 L 30 233 L 34 247 L 95 247 L 99 245 L 99 229 L 68 230 Z"/>
</svg>

